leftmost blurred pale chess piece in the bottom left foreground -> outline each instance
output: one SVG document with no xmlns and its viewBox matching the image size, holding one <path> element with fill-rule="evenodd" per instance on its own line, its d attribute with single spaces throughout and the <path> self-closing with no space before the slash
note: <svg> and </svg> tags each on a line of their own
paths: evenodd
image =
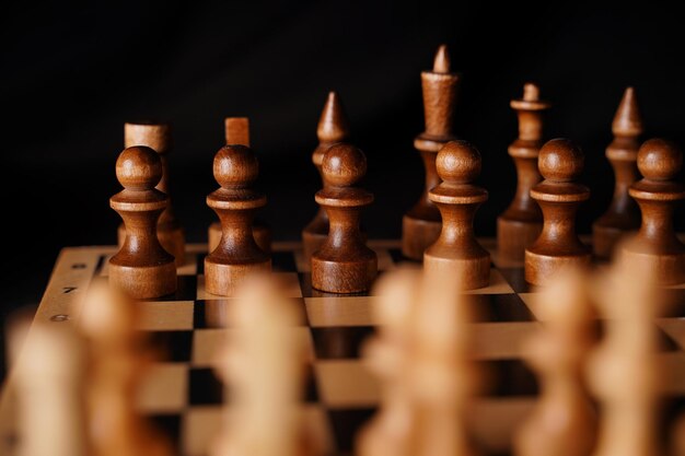
<svg viewBox="0 0 685 456">
<path fill-rule="evenodd" d="M 83 346 L 71 328 L 37 321 L 13 370 L 19 456 L 90 455 L 82 391 Z"/>
</svg>

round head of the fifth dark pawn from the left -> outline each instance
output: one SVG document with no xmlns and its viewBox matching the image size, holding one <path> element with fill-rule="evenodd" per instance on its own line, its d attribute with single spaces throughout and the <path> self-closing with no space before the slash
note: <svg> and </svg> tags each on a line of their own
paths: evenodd
<svg viewBox="0 0 685 456">
<path fill-rule="evenodd" d="M 573 182 L 583 171 L 585 157 L 571 140 L 557 138 L 539 150 L 537 168 L 544 178 L 559 183 Z"/>
</svg>

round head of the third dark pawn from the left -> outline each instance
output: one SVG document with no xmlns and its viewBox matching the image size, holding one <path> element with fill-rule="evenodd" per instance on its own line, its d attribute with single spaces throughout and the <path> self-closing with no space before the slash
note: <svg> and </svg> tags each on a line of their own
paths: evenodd
<svg viewBox="0 0 685 456">
<path fill-rule="evenodd" d="M 324 154 L 322 172 L 330 185 L 349 187 L 367 174 L 367 157 L 356 147 L 339 142 Z"/>
</svg>

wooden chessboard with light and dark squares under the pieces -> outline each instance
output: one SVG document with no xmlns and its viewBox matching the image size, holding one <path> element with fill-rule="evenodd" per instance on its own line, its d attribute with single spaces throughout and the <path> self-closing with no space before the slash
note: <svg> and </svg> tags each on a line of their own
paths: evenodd
<svg viewBox="0 0 685 456">
<path fill-rule="evenodd" d="M 539 385 L 521 356 L 521 343 L 539 325 L 537 291 L 523 280 L 523 268 L 498 258 L 494 239 L 481 239 L 491 253 L 488 287 L 468 292 L 478 306 L 473 324 L 474 356 L 492 379 L 468 413 L 468 425 L 484 454 L 509 454 L 511 437 L 535 404 Z M 406 260 L 398 241 L 369 242 L 379 257 L 380 276 L 399 266 L 420 267 Z M 78 325 L 89 287 L 106 280 L 107 259 L 115 246 L 67 247 L 60 253 L 34 321 Z M 140 330 L 149 335 L 160 358 L 147 372 L 138 406 L 177 445 L 178 454 L 200 456 L 219 429 L 224 388 L 214 374 L 214 352 L 231 330 L 227 312 L 231 299 L 205 291 L 202 271 L 207 246 L 186 247 L 173 296 L 140 302 Z M 302 324 L 297 328 L 309 347 L 305 393 L 307 426 L 317 436 L 316 454 L 352 454 L 355 437 L 375 412 L 379 386 L 360 356 L 364 341 L 382 321 L 371 306 L 378 296 L 335 295 L 311 287 L 309 262 L 299 243 L 275 243 L 275 273 L 289 284 Z M 663 385 L 665 431 L 673 417 L 685 410 L 685 285 L 667 289 L 673 302 L 654 325 L 660 338 L 655 355 L 667 378 Z M 28 332 L 31 337 L 31 331 Z M 0 404 L 2 454 L 12 454 L 16 417 L 12 375 Z"/>
</svg>

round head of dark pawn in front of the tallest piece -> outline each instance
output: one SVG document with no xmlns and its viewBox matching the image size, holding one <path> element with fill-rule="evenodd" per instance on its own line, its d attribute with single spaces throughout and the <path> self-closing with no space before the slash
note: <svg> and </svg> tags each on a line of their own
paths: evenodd
<svg viewBox="0 0 685 456">
<path fill-rule="evenodd" d="M 468 141 L 450 141 L 436 157 L 440 178 L 450 184 L 468 184 L 480 175 L 480 152 Z"/>
</svg>

